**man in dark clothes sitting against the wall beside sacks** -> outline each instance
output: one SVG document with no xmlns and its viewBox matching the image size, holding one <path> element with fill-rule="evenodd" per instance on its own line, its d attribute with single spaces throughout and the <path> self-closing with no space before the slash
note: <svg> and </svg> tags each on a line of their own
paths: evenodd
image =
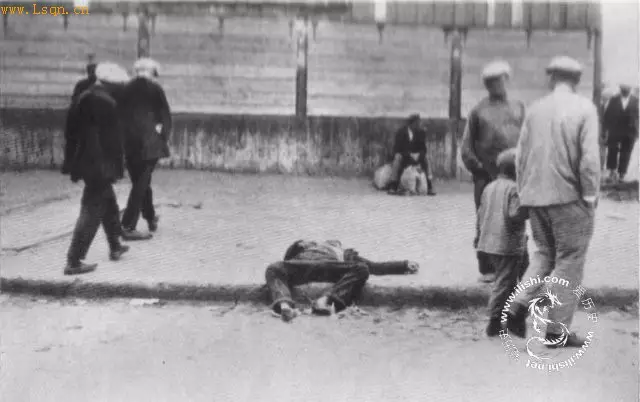
<svg viewBox="0 0 640 402">
<path fill-rule="evenodd" d="M 427 133 L 420 127 L 420 116 L 409 116 L 407 124 L 396 133 L 393 144 L 392 173 L 389 193 L 397 193 L 402 172 L 411 165 L 420 165 L 427 175 L 427 195 L 436 195 L 433 189 L 433 175 L 427 158 Z"/>
</svg>

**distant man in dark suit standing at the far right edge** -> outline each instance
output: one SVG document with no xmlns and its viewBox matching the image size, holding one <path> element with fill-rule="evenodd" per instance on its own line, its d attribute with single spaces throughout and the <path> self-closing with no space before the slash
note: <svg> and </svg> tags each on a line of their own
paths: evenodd
<svg viewBox="0 0 640 402">
<path fill-rule="evenodd" d="M 603 120 L 607 135 L 609 177 L 614 181 L 618 178 L 624 180 L 633 146 L 638 139 L 638 98 L 631 94 L 629 85 L 621 85 L 620 93 L 611 98 Z"/>
</svg>

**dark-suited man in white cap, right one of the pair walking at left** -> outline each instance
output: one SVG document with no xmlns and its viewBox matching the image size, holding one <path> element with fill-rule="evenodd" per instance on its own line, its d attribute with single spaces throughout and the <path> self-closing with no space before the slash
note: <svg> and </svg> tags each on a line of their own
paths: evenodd
<svg viewBox="0 0 640 402">
<path fill-rule="evenodd" d="M 134 65 L 136 77 L 126 86 L 121 109 L 126 130 L 126 163 L 131 192 L 122 217 L 125 240 L 144 240 L 151 234 L 136 230 L 140 214 L 150 232 L 158 228 L 153 207 L 151 175 L 161 158 L 169 156 L 171 111 L 164 90 L 156 81 L 159 67 L 151 59 Z"/>
</svg>

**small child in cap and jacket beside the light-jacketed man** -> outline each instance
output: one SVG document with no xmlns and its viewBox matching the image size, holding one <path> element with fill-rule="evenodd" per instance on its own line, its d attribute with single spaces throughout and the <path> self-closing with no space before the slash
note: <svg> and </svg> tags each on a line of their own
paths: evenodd
<svg viewBox="0 0 640 402">
<path fill-rule="evenodd" d="M 500 313 L 528 266 L 525 222 L 516 186 L 515 149 L 498 155 L 498 178 L 483 191 L 478 209 L 477 251 L 484 253 L 496 273 L 489 299 L 488 336 L 501 330 Z"/>
</svg>

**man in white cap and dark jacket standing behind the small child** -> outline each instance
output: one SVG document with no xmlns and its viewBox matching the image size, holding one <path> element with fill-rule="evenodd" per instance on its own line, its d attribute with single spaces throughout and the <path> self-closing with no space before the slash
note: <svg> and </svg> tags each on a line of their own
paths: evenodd
<svg viewBox="0 0 640 402">
<path fill-rule="evenodd" d="M 524 103 L 508 98 L 507 84 L 511 68 L 504 61 L 489 63 L 482 71 L 482 80 L 488 96 L 469 113 L 462 137 L 461 157 L 473 176 L 473 197 L 476 212 L 484 188 L 498 177 L 498 155 L 518 143 L 520 128 L 525 116 Z M 477 245 L 478 233 L 474 239 Z M 478 269 L 483 282 L 492 282 L 495 273 L 486 256 L 477 252 Z"/>
</svg>

